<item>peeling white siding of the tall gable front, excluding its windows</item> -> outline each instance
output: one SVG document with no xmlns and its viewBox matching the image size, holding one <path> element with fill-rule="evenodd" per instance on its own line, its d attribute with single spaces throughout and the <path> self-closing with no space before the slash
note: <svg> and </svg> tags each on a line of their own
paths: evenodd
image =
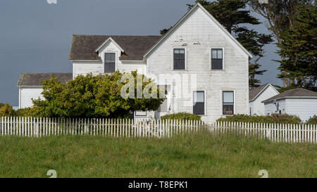
<svg viewBox="0 0 317 192">
<path fill-rule="evenodd" d="M 173 71 L 174 48 L 185 49 L 186 70 Z M 212 48 L 224 49 L 224 70 L 211 70 Z M 197 8 L 151 53 L 147 75 L 165 75 L 166 79 L 158 81 L 172 86 L 173 113 L 192 113 L 193 91 L 205 91 L 206 115 L 202 120 L 214 122 L 223 117 L 222 91 L 235 91 L 235 113 L 249 114 L 248 60 L 247 54 Z M 182 89 L 187 87 L 188 91 Z"/>
</svg>

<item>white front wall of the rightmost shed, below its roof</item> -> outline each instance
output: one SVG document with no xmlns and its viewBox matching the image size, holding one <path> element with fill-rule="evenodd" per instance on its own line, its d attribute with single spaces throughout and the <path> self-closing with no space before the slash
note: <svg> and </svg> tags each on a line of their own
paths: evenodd
<svg viewBox="0 0 317 192">
<path fill-rule="evenodd" d="M 317 98 L 287 98 L 287 113 L 297 115 L 303 122 L 317 115 Z"/>
</svg>

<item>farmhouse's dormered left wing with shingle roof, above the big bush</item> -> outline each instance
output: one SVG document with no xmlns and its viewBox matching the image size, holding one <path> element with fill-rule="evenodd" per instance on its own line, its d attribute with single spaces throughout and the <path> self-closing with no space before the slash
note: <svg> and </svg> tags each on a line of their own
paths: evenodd
<svg viewBox="0 0 317 192">
<path fill-rule="evenodd" d="M 142 56 L 157 39 L 159 36 L 73 35 L 73 77 L 134 70 L 146 74 L 147 63 Z"/>
</svg>

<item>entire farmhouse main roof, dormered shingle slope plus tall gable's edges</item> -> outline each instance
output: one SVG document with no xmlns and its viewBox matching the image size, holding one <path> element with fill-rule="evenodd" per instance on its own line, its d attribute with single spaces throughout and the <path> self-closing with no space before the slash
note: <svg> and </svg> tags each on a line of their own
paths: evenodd
<svg viewBox="0 0 317 192">
<path fill-rule="evenodd" d="M 227 35 L 244 53 L 250 58 L 252 55 L 245 49 L 235 37 L 232 37 L 230 32 L 221 25 L 216 18 L 206 11 L 204 6 L 197 3 L 191 8 L 172 29 L 168 30 L 163 36 L 120 36 L 120 35 L 84 35 L 73 34 L 73 40 L 70 47 L 69 60 L 100 60 L 98 52 L 99 49 L 111 39 L 121 49 L 123 54 L 120 56 L 120 60 L 144 60 L 145 57 L 151 53 L 156 46 L 159 46 L 160 42 L 168 37 L 168 34 L 173 32 L 178 25 L 185 20 L 187 16 L 192 13 L 196 8 L 201 8 L 211 20 Z"/>
</svg>

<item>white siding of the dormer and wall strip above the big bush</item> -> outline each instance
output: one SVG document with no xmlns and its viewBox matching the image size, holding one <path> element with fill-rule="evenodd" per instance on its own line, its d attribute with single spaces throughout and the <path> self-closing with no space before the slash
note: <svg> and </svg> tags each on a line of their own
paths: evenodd
<svg viewBox="0 0 317 192">
<path fill-rule="evenodd" d="M 147 72 L 145 61 L 120 60 L 120 49 L 112 41 L 108 41 L 99 51 L 101 61 L 73 61 L 73 77 L 76 77 L 77 75 L 86 75 L 90 72 L 92 72 L 92 75 L 104 75 L 104 53 L 116 53 L 116 70 L 120 72 L 131 72 L 134 70 L 143 74 L 146 74 Z"/>
</svg>

